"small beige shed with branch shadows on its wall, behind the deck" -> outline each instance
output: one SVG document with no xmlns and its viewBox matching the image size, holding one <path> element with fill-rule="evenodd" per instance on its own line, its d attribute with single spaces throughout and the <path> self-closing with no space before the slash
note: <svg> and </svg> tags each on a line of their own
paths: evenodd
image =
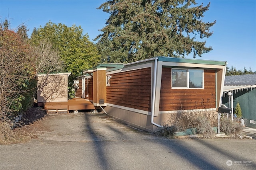
<svg viewBox="0 0 256 170">
<path fill-rule="evenodd" d="M 44 102 L 67 102 L 70 74 L 71 72 L 58 72 L 36 75 L 38 106 L 43 106 Z"/>
</svg>

